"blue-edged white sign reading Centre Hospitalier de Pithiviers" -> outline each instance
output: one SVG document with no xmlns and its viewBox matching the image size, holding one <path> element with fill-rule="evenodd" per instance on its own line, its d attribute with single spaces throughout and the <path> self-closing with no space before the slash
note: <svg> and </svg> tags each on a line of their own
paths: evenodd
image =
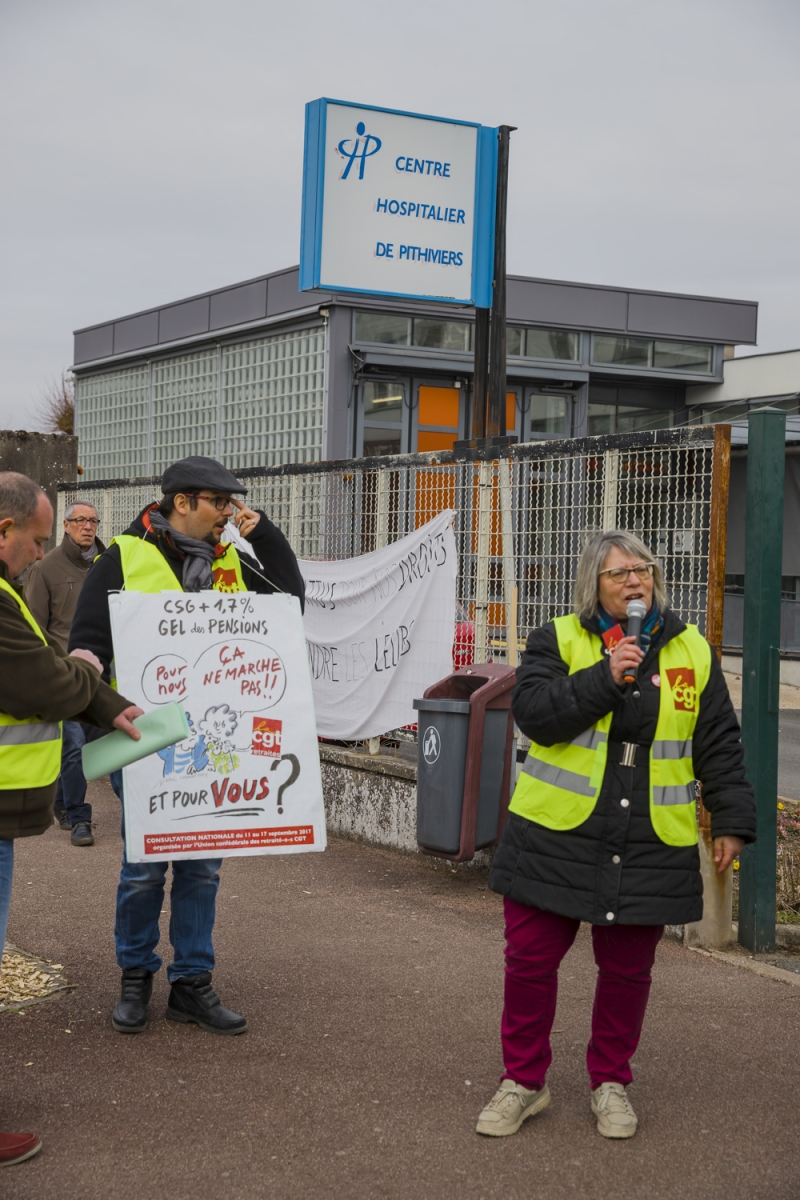
<svg viewBox="0 0 800 1200">
<path fill-rule="evenodd" d="M 306 106 L 300 290 L 492 305 L 498 131 Z"/>
</svg>

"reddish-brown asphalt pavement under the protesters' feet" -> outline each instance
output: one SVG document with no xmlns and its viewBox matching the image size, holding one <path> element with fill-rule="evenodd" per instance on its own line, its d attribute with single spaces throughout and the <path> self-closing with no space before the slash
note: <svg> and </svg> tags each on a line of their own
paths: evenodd
<svg viewBox="0 0 800 1200">
<path fill-rule="evenodd" d="M 215 984 L 249 1032 L 163 1020 L 160 972 L 146 1033 L 115 1033 L 119 810 L 104 785 L 91 798 L 95 847 L 56 828 L 17 842 L 10 940 L 77 989 L 0 1016 L 0 1128 L 44 1142 L 0 1172 L 4 1200 L 800 1196 L 800 989 L 670 942 L 637 1136 L 603 1140 L 589 1110 L 587 929 L 561 968 L 551 1108 L 477 1136 L 501 1067 L 501 901 L 416 856 L 335 840 L 229 859 Z"/>
</svg>

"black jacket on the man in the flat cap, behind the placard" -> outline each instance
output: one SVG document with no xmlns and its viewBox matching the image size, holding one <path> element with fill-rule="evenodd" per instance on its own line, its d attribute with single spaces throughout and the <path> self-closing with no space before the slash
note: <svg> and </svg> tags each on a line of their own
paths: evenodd
<svg viewBox="0 0 800 1200">
<path fill-rule="evenodd" d="M 150 508 L 151 505 L 148 505 L 148 509 Z M 144 538 L 146 529 L 142 517 L 148 509 L 143 509 L 136 521 L 125 530 L 126 534 Z M 261 595 L 289 592 L 299 598 L 300 606 L 303 607 L 306 587 L 294 551 L 278 527 L 273 526 L 263 512 L 260 516 L 261 520 L 248 535 L 247 541 L 258 556 L 258 562 L 264 565 L 259 566 L 254 558 L 248 558 L 246 554 L 240 553 L 239 556 L 247 590 L 258 592 Z M 148 540 L 158 547 L 180 582 L 184 571 L 184 556 L 175 550 L 164 534 L 149 533 Z M 108 678 L 108 667 L 114 658 L 108 593 L 119 592 L 122 582 L 120 547 L 109 546 L 89 571 L 80 589 L 72 620 L 70 649 L 80 647 L 94 650 L 103 664 L 104 678 Z"/>
</svg>

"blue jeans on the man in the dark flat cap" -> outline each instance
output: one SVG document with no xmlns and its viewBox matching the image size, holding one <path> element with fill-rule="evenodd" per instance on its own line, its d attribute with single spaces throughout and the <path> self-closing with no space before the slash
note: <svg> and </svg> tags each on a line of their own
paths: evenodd
<svg viewBox="0 0 800 1200">
<path fill-rule="evenodd" d="M 122 799 L 122 773 L 110 776 L 112 787 Z M 125 810 L 122 810 L 125 838 Z M 128 863 L 122 850 L 122 870 L 116 889 L 114 938 L 116 961 L 125 970 L 140 967 L 157 971 L 162 959 L 156 954 L 161 937 L 158 917 L 164 904 L 164 883 L 169 863 Z M 169 893 L 169 941 L 173 962 L 167 967 L 170 983 L 182 976 L 213 971 L 213 918 L 221 858 L 180 859 L 173 863 Z"/>
</svg>

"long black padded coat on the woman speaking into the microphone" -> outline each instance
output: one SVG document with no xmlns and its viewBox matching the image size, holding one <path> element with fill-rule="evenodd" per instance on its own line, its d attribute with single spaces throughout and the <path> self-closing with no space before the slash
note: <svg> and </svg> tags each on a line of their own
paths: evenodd
<svg viewBox="0 0 800 1200">
<path fill-rule="evenodd" d="M 583 624 L 600 635 L 595 620 Z M 634 767 L 620 766 L 622 742 L 652 744 L 658 650 L 685 628 L 675 613 L 664 613 L 663 630 L 639 667 L 636 690 L 614 683 L 608 658 L 567 674 L 552 622 L 530 634 L 513 692 L 517 725 L 540 745 L 554 745 L 572 740 L 612 710 L 608 764 L 595 810 L 576 829 L 546 829 L 509 816 L 489 876 L 495 892 L 599 925 L 672 925 L 703 916 L 697 847 L 667 846 L 652 828 L 646 750 L 637 751 Z M 692 746 L 712 836 L 754 841 L 753 790 L 745 778 L 739 722 L 716 655 L 699 697 Z M 620 805 L 622 798 L 630 799 L 628 806 Z"/>
</svg>

